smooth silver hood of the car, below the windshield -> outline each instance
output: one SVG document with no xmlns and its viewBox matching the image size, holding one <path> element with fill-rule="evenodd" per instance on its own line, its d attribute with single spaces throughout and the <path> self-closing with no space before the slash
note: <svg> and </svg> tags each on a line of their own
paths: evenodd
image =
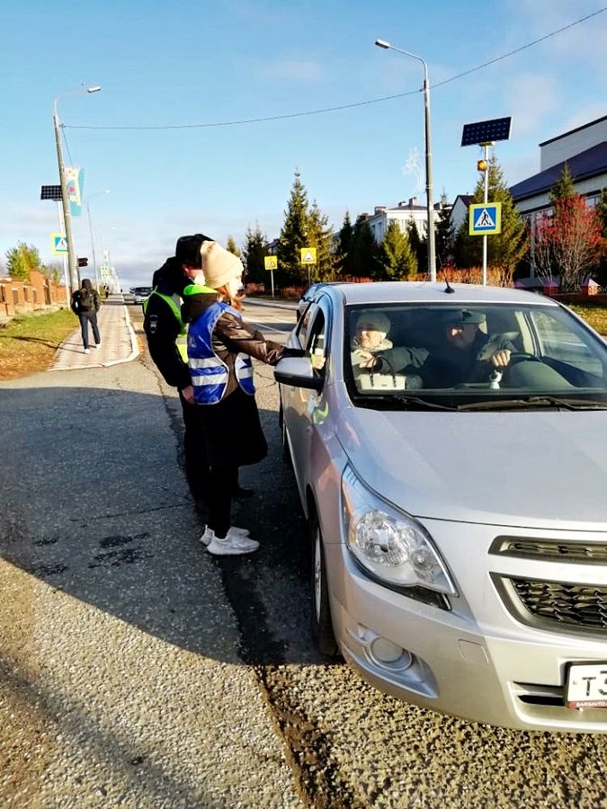
<svg viewBox="0 0 607 809">
<path fill-rule="evenodd" d="M 348 407 L 337 435 L 366 485 L 417 517 L 607 529 L 605 412 Z"/>
</svg>

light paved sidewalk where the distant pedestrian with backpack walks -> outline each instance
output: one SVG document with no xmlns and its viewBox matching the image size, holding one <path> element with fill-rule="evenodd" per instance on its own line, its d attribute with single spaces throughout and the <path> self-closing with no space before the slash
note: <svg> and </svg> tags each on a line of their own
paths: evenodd
<svg viewBox="0 0 607 809">
<path fill-rule="evenodd" d="M 85 354 L 80 325 L 58 347 L 49 370 L 104 368 L 119 362 L 134 360 L 139 353 L 137 338 L 130 324 L 129 311 L 121 295 L 111 295 L 97 314 L 102 344 L 94 347 L 93 330 L 89 325 L 91 352 Z"/>
</svg>

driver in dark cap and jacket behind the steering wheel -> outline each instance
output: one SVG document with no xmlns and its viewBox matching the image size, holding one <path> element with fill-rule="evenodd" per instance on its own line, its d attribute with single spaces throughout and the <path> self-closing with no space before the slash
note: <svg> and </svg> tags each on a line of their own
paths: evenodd
<svg viewBox="0 0 607 809">
<path fill-rule="evenodd" d="M 442 346 L 433 351 L 421 372 L 427 387 L 452 387 L 482 382 L 492 370 L 503 370 L 515 346 L 509 334 L 487 334 L 483 312 L 460 309 L 444 316 Z"/>
</svg>

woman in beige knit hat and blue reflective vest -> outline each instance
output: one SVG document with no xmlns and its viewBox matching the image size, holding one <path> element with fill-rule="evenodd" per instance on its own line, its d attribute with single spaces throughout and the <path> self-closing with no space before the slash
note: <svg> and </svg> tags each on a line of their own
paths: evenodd
<svg viewBox="0 0 607 809">
<path fill-rule="evenodd" d="M 193 399 L 201 412 L 210 463 L 209 522 L 201 542 L 211 554 L 248 554 L 259 543 L 247 529 L 232 526 L 232 491 L 238 467 L 258 463 L 268 449 L 254 398 L 251 358 L 275 365 L 281 357 L 302 352 L 266 340 L 245 324 L 238 298 L 243 265 L 236 255 L 208 241 L 201 256 L 205 286 L 186 287 L 182 306 L 183 321 L 189 324 Z"/>
</svg>

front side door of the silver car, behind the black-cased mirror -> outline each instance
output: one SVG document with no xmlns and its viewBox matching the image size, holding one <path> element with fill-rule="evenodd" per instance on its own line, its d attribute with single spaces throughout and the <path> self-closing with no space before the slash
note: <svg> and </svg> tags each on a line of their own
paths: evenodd
<svg viewBox="0 0 607 809">
<path fill-rule="evenodd" d="M 306 351 L 316 373 L 325 378 L 327 373 L 328 305 L 326 299 L 313 302 L 302 318 L 297 337 Z M 299 489 L 305 502 L 306 483 L 310 477 L 311 441 L 315 422 L 322 417 L 325 387 L 319 392 L 304 387 L 284 385 L 281 391 L 283 418 L 289 440 L 290 456 Z"/>
</svg>

